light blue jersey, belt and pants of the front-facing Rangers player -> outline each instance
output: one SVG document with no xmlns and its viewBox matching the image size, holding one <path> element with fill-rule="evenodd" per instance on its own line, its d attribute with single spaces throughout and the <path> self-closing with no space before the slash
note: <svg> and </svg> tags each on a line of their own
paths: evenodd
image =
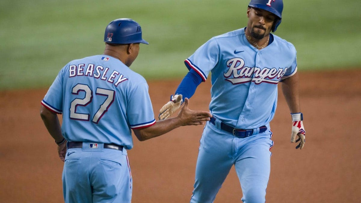
<svg viewBox="0 0 361 203">
<path fill-rule="evenodd" d="M 265 202 L 273 146 L 269 122 L 277 107 L 278 83 L 297 72 L 296 49 L 270 34 L 268 46 L 259 50 L 244 31 L 213 37 L 185 60 L 203 81 L 212 75 L 213 117 L 200 140 L 191 203 L 213 202 L 232 166 L 242 201 Z"/>
</svg>

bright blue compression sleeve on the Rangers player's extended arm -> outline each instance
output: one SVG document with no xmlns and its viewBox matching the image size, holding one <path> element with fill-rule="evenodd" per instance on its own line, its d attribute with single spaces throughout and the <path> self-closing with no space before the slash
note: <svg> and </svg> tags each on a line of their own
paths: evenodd
<svg viewBox="0 0 361 203">
<path fill-rule="evenodd" d="M 182 82 L 179 84 L 175 94 L 181 94 L 184 98 L 191 98 L 196 91 L 198 85 L 203 81 L 201 76 L 193 69 L 191 69 L 187 75 L 183 78 Z"/>
</svg>

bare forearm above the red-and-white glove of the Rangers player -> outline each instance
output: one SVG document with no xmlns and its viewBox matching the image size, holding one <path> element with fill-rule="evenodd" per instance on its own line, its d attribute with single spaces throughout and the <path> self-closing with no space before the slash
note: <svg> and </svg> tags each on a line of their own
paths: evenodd
<svg viewBox="0 0 361 203">
<path fill-rule="evenodd" d="M 298 73 L 286 78 L 281 83 L 282 92 L 286 99 L 288 108 L 291 113 L 300 112 L 300 98 L 299 98 L 299 76 Z"/>
</svg>

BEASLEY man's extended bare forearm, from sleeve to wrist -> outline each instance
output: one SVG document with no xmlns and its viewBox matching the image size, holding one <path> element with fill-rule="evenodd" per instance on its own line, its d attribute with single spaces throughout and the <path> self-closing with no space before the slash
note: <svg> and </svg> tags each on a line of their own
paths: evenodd
<svg viewBox="0 0 361 203">
<path fill-rule="evenodd" d="M 162 134 L 182 126 L 177 117 L 168 118 L 165 120 L 157 121 L 154 125 L 142 129 L 133 129 L 135 136 L 139 141 L 158 137 Z"/>
</svg>

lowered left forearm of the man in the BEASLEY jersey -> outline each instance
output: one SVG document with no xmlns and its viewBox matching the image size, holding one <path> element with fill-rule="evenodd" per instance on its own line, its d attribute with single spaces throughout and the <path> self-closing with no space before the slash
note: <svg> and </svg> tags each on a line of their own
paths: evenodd
<svg viewBox="0 0 361 203">
<path fill-rule="evenodd" d="M 53 137 L 56 142 L 61 142 L 64 137 L 61 134 L 61 126 L 57 114 L 42 106 L 40 109 L 40 116 L 51 137 Z"/>
</svg>

